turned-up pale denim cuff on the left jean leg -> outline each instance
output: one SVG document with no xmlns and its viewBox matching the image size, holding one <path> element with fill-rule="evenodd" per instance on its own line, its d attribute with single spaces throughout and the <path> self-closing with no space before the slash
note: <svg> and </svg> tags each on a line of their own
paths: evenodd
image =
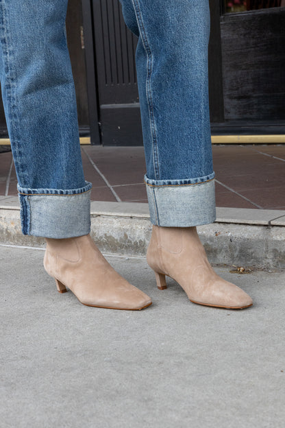
<svg viewBox="0 0 285 428">
<path fill-rule="evenodd" d="M 27 189 L 19 187 L 24 235 L 71 238 L 90 233 L 92 184 L 80 189 Z"/>
</svg>

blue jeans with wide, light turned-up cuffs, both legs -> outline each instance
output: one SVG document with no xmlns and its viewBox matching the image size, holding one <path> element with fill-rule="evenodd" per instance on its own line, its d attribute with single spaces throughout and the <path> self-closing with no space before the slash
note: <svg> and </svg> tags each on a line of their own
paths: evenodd
<svg viewBox="0 0 285 428">
<path fill-rule="evenodd" d="M 120 0 L 136 69 L 151 222 L 215 219 L 208 106 L 208 0 Z M 25 235 L 90 231 L 67 0 L 0 0 L 0 79 Z"/>
</svg>

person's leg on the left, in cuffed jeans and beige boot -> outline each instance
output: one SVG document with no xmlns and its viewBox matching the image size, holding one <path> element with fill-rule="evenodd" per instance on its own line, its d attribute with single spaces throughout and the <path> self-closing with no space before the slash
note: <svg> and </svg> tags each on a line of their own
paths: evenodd
<svg viewBox="0 0 285 428">
<path fill-rule="evenodd" d="M 115 272 L 90 238 L 77 106 L 66 45 L 67 0 L 1 0 L 0 79 L 25 235 L 45 237 L 59 292 L 89 306 L 142 309 L 149 296 Z"/>
</svg>

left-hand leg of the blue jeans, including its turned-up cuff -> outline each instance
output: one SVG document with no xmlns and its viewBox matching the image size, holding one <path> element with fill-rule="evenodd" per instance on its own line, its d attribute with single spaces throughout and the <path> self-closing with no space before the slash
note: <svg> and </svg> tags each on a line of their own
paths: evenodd
<svg viewBox="0 0 285 428">
<path fill-rule="evenodd" d="M 66 7 L 67 0 L 0 0 L 1 91 L 25 235 L 90 231 Z"/>
</svg>

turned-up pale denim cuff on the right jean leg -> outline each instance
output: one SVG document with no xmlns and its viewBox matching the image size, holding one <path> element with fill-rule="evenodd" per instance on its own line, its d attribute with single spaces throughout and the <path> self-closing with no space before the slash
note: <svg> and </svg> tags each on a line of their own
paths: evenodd
<svg viewBox="0 0 285 428">
<path fill-rule="evenodd" d="M 216 219 L 214 172 L 189 180 L 150 180 L 145 176 L 151 223 L 190 227 Z"/>
</svg>

